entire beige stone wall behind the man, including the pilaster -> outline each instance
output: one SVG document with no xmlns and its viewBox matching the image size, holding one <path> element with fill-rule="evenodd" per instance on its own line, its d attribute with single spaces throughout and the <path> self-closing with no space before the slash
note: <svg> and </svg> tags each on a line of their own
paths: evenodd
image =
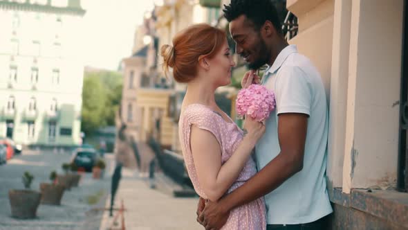
<svg viewBox="0 0 408 230">
<path fill-rule="evenodd" d="M 330 103 L 328 186 L 396 183 L 402 0 L 288 0 L 290 40 L 317 66 Z"/>
</svg>

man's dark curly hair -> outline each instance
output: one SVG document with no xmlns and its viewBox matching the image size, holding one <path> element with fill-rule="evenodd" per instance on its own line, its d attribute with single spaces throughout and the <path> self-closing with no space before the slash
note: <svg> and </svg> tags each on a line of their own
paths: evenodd
<svg viewBox="0 0 408 230">
<path fill-rule="evenodd" d="M 257 30 L 265 21 L 270 21 L 277 33 L 282 34 L 279 15 L 271 0 L 231 0 L 230 5 L 224 5 L 223 12 L 228 22 L 245 15 Z"/>
</svg>

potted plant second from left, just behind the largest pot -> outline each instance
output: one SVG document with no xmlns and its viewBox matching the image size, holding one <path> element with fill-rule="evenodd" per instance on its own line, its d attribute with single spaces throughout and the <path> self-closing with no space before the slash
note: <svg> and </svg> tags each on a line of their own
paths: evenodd
<svg viewBox="0 0 408 230">
<path fill-rule="evenodd" d="M 62 184 L 57 184 L 57 172 L 50 172 L 51 183 L 41 183 L 41 204 L 60 205 L 62 195 L 64 195 L 65 187 Z"/>
</svg>

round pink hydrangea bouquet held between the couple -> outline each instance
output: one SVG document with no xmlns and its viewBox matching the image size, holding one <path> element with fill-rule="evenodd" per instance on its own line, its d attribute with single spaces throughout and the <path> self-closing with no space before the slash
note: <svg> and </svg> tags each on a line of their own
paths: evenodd
<svg viewBox="0 0 408 230">
<path fill-rule="evenodd" d="M 238 92 L 236 108 L 240 118 L 246 115 L 265 121 L 275 109 L 275 94 L 263 85 L 250 85 Z"/>
</svg>

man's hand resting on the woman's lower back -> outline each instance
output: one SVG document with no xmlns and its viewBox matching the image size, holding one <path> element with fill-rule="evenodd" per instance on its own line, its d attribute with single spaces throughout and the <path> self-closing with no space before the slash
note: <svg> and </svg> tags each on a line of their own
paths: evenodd
<svg viewBox="0 0 408 230">
<path fill-rule="evenodd" d="M 218 230 L 224 226 L 229 217 L 230 211 L 223 209 L 219 202 L 207 201 L 199 219 L 203 220 L 205 230 Z"/>
</svg>

